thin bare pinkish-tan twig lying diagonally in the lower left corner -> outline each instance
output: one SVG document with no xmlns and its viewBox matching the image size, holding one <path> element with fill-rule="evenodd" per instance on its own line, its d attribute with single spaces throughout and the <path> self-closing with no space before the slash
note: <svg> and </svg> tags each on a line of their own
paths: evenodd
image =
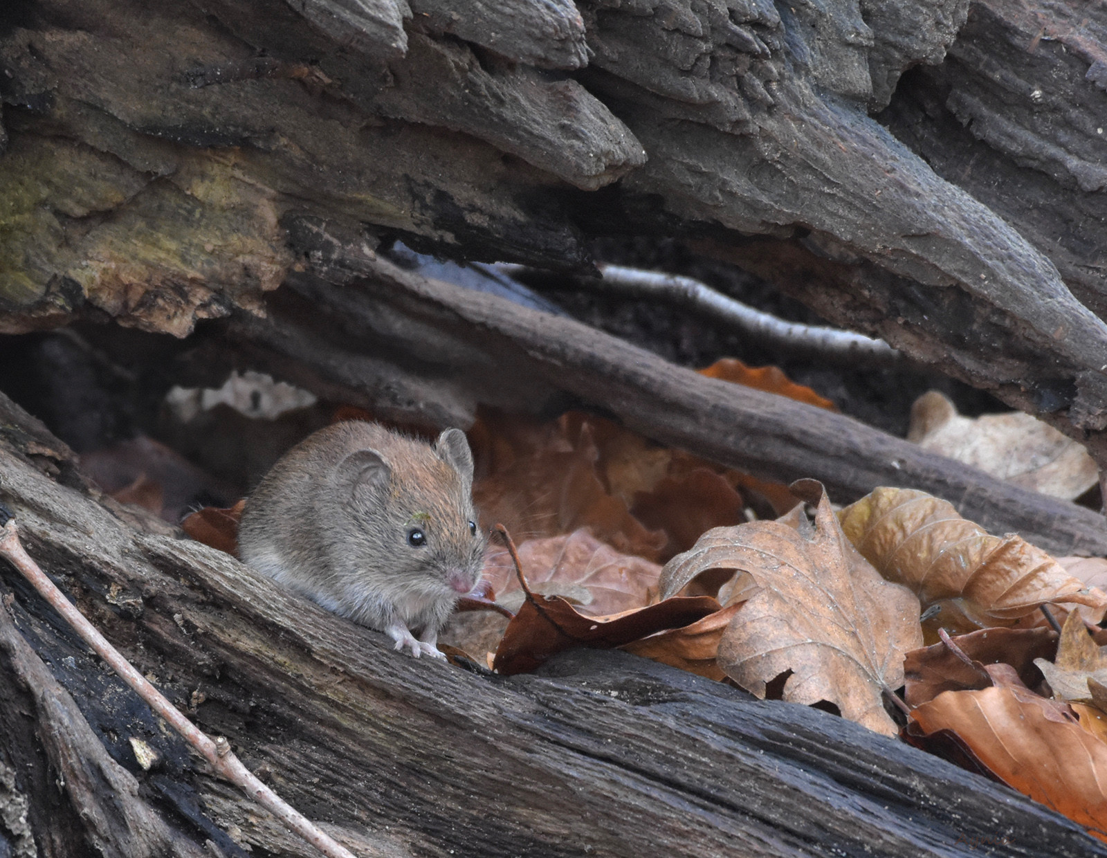
<svg viewBox="0 0 1107 858">
<path fill-rule="evenodd" d="M 9 517 L 7 510 L 2 508 L 0 508 L 0 516 L 3 518 Z M 54 582 L 39 568 L 39 565 L 23 550 L 13 519 L 8 520 L 3 529 L 0 530 L 0 557 L 7 558 L 31 582 L 34 589 L 42 595 L 42 598 L 50 602 L 54 610 L 73 627 L 76 633 L 96 651 L 96 654 L 107 662 L 112 670 L 120 674 L 123 681 L 149 704 L 154 712 L 165 719 L 188 744 L 196 748 L 211 768 L 269 810 L 323 855 L 330 856 L 330 858 L 354 858 L 349 849 L 319 830 L 313 823 L 304 818 L 272 789 L 262 784 L 235 756 L 230 750 L 230 743 L 225 737 L 220 736 L 213 741 L 188 719 L 182 715 L 176 706 L 162 696 L 162 693 L 135 670 L 134 665 L 118 650 L 108 643 L 107 639 L 96 630 L 96 627 L 85 619 L 84 614 L 65 598 L 65 595 L 54 586 Z"/>
</svg>

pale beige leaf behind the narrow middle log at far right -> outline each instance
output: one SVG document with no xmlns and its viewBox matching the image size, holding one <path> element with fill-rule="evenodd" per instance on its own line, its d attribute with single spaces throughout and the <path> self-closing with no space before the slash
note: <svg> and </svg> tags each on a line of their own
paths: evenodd
<svg viewBox="0 0 1107 858">
<path fill-rule="evenodd" d="M 1099 479 L 1095 459 L 1082 444 L 1024 414 L 963 417 L 938 391 L 911 406 L 908 441 L 979 467 L 1016 486 L 1073 500 Z"/>
</svg>

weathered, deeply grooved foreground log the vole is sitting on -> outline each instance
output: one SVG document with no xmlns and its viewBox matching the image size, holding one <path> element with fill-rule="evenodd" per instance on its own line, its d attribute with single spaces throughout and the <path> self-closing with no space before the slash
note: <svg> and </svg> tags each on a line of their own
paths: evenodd
<svg viewBox="0 0 1107 858">
<path fill-rule="evenodd" d="M 0 413 L 35 436 L 2 397 Z M 416 662 L 227 555 L 124 524 L 33 464 L 56 466 L 63 445 L 30 448 L 0 437 L 0 502 L 43 568 L 358 855 L 970 858 L 990 838 L 997 856 L 1107 856 L 937 757 L 627 653 L 567 653 L 511 679 Z M 14 596 L 0 609 L 0 724 L 15 727 L 0 761 L 40 856 L 310 855 L 133 705 L 7 566 L 0 590 Z M 161 762 L 144 769 L 132 737 Z"/>
</svg>

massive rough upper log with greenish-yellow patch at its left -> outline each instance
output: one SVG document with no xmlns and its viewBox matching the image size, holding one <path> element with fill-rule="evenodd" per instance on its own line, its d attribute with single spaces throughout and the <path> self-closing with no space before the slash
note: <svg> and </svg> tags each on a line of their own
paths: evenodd
<svg viewBox="0 0 1107 858">
<path fill-rule="evenodd" d="M 258 311 L 298 265 L 290 211 L 561 266 L 593 236 L 675 234 L 1107 463 L 1107 12 L 577 8 L 505 30 L 449 0 L 25 0 L 0 37 L 3 330 L 106 312 L 179 335 Z M 889 100 L 886 127 L 868 111 Z M 1032 199 L 1008 190 L 1024 175 Z"/>
</svg>

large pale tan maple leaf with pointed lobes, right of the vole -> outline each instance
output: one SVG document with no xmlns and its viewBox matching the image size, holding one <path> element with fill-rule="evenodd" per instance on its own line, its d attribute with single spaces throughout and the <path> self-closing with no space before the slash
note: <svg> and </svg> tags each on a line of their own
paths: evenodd
<svg viewBox="0 0 1107 858">
<path fill-rule="evenodd" d="M 792 671 L 784 700 L 829 701 L 845 717 L 896 735 L 881 694 L 903 684 L 903 655 L 922 643 L 919 600 L 857 554 L 819 489 L 814 528 L 755 521 L 710 530 L 665 566 L 662 596 L 707 570 L 747 573 L 761 590 L 720 642 L 726 674 L 764 697 L 767 682 Z"/>
</svg>

